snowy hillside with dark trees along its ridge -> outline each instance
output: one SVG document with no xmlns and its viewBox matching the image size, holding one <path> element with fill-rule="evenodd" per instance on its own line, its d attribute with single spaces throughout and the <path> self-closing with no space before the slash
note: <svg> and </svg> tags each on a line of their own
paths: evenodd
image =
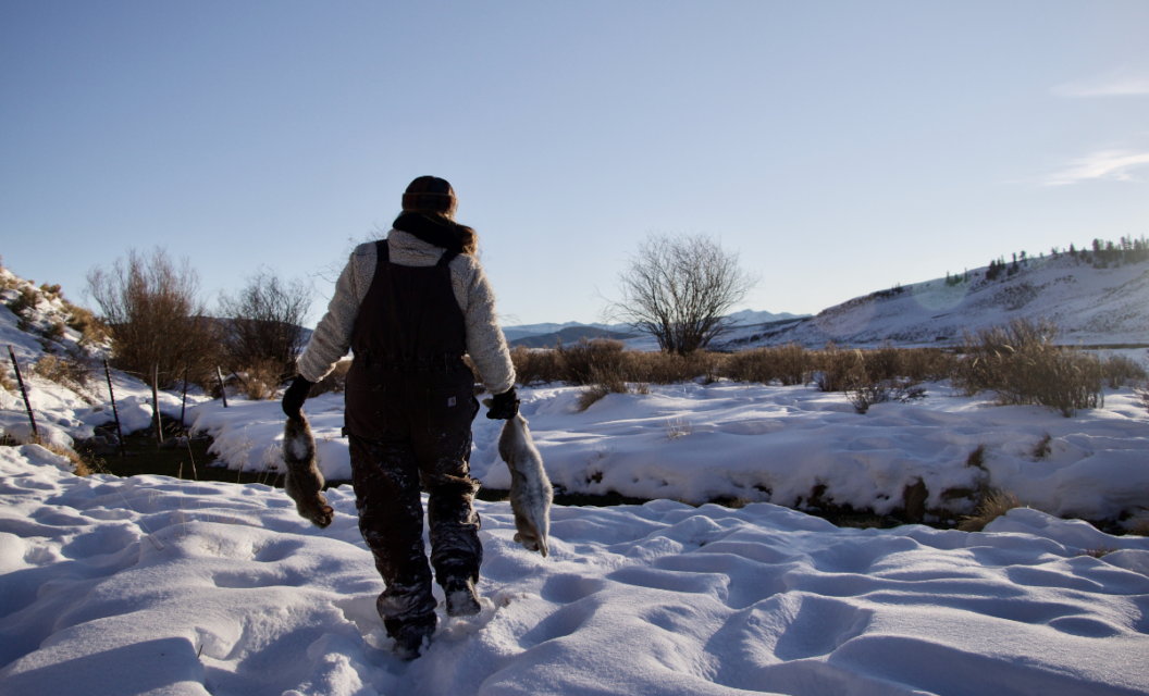
<svg viewBox="0 0 1149 696">
<path fill-rule="evenodd" d="M 1095 268 L 1062 254 L 1030 260 L 1013 274 L 987 278 L 987 271 L 974 269 L 969 280 L 939 278 L 874 292 L 813 317 L 740 331 L 724 346 L 953 345 L 963 331 L 1018 317 L 1051 319 L 1064 345 L 1149 343 L 1149 263 Z"/>
</svg>

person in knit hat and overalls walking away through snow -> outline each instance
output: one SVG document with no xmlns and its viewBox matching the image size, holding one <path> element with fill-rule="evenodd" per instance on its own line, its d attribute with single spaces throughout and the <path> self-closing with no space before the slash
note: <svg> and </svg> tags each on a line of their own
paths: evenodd
<svg viewBox="0 0 1149 696">
<path fill-rule="evenodd" d="M 395 652 L 418 657 L 437 626 L 423 546 L 426 490 L 431 566 L 447 614 L 480 611 L 480 482 L 470 475 L 478 412 L 469 354 L 494 394 L 488 418 L 518 412 L 515 368 L 498 324 L 495 295 L 476 258 L 478 237 L 455 222 L 446 180 L 419 177 L 385 240 L 360 245 L 283 397 L 298 415 L 311 385 L 350 349 L 346 428 L 360 531 L 386 582 L 376 603 Z"/>
</svg>

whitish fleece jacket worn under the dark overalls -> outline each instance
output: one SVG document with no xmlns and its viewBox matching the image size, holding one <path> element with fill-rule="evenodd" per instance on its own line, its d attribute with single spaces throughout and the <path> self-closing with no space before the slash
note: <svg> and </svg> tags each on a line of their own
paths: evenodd
<svg viewBox="0 0 1149 696">
<path fill-rule="evenodd" d="M 429 266 L 439 263 L 444 249 L 418 239 L 402 230 L 387 234 L 391 263 Z M 299 373 L 310 381 L 319 381 L 347 355 L 352 343 L 352 328 L 358 316 L 360 304 L 375 278 L 375 242 L 355 247 L 347 268 L 336 281 L 336 294 L 327 303 L 327 314 L 311 334 L 303 355 L 299 357 Z M 479 260 L 466 254 L 456 256 L 448 266 L 455 300 L 466 325 L 466 353 L 479 370 L 483 385 L 492 394 L 502 394 L 515 386 L 515 366 L 510 362 L 507 339 L 499 327 L 495 314 L 495 294 L 491 289 Z"/>
</svg>

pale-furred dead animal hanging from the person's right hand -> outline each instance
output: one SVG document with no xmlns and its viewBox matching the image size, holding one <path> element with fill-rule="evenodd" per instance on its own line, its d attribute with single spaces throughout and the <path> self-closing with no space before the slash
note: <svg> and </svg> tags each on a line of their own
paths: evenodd
<svg viewBox="0 0 1149 696">
<path fill-rule="evenodd" d="M 491 400 L 483 403 L 491 408 Z M 515 512 L 515 541 L 529 551 L 546 557 L 547 534 L 550 533 L 550 503 L 554 490 L 542 467 L 542 456 L 534 447 L 526 418 L 516 413 L 503 424 L 499 436 L 499 456 L 510 469 L 510 508 Z"/>
</svg>

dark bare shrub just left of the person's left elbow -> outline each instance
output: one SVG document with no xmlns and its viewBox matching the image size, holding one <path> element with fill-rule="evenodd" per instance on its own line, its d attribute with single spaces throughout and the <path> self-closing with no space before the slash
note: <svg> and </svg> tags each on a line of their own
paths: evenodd
<svg viewBox="0 0 1149 696">
<path fill-rule="evenodd" d="M 261 370 L 278 365 L 280 378 L 293 374 L 307 335 L 302 324 L 314 295 L 309 284 L 283 280 L 267 269 L 249 276 L 247 285 L 234 295 L 223 295 L 219 309 L 228 319 L 225 346 L 230 364 Z"/>
</svg>

